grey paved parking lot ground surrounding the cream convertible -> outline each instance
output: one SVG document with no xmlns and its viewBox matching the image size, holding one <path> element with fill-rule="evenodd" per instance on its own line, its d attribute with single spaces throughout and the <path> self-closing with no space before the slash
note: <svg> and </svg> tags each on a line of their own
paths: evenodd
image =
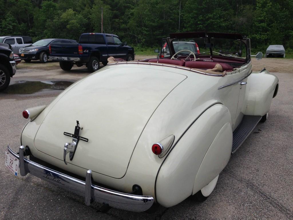
<svg viewBox="0 0 293 220">
<path fill-rule="evenodd" d="M 99 204 L 87 207 L 83 197 L 32 175 L 14 177 L 5 167 L 7 145 L 10 143 L 17 150 L 22 128 L 27 122 L 22 111 L 49 104 L 62 92 L 62 86 L 88 75 L 84 67 L 63 71 L 56 63 L 38 68 L 32 67 L 39 65 L 37 62 L 21 63 L 8 90 L 0 94 L 0 153 L 3 158 L 0 160 L 0 219 L 293 219 L 292 63 L 285 59 L 253 59 L 254 70 L 266 66 L 280 80 L 268 120 L 259 123 L 231 156 L 216 188 L 205 202 L 193 202 L 188 198 L 171 208 L 159 207 L 154 214 L 114 208 L 101 213 L 98 212 Z M 17 86 L 23 81 L 46 83 L 23 84 L 28 87 L 25 90 Z M 43 85 L 49 81 L 63 83 L 52 90 Z"/>
</svg>

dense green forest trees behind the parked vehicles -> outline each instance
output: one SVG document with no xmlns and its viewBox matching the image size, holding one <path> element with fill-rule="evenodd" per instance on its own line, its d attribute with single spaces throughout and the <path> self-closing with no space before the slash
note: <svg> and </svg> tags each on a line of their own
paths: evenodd
<svg viewBox="0 0 293 220">
<path fill-rule="evenodd" d="M 251 38 L 252 51 L 281 44 L 293 54 L 293 0 L 0 0 L 0 36 L 78 41 L 101 32 L 102 7 L 104 33 L 136 51 L 153 51 L 179 30 L 240 33 Z"/>
</svg>

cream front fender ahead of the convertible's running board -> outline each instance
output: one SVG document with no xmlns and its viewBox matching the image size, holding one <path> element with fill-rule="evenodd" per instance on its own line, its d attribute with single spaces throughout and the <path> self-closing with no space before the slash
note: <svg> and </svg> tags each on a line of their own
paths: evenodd
<svg viewBox="0 0 293 220">
<path fill-rule="evenodd" d="M 252 73 L 247 78 L 244 115 L 260 115 L 268 113 L 272 98 L 277 95 L 279 79 L 268 72 Z"/>
</svg>

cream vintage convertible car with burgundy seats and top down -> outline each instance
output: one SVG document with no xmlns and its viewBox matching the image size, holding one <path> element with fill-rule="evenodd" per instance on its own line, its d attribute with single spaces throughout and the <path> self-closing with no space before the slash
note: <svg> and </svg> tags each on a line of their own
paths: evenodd
<svg viewBox="0 0 293 220">
<path fill-rule="evenodd" d="M 176 41 L 196 42 L 200 53 Z M 250 39 L 239 34 L 174 33 L 166 43 L 169 57 L 113 60 L 48 106 L 23 111 L 30 121 L 19 153 L 8 145 L 6 165 L 17 175 L 9 161 L 19 160 L 22 176 L 86 205 L 139 212 L 205 200 L 231 153 L 267 119 L 278 78 L 252 71 Z"/>
</svg>

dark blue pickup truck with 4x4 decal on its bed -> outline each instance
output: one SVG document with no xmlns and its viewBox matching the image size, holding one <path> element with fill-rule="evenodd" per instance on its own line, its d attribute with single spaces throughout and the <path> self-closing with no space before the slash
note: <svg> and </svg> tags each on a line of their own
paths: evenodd
<svg viewBox="0 0 293 220">
<path fill-rule="evenodd" d="M 71 70 L 86 65 L 89 72 L 99 69 L 100 62 L 107 65 L 107 58 L 113 56 L 127 61 L 134 60 L 134 48 L 122 43 L 114 34 L 84 33 L 79 43 L 52 43 L 49 45 L 50 60 L 59 61 L 62 70 Z"/>
</svg>

